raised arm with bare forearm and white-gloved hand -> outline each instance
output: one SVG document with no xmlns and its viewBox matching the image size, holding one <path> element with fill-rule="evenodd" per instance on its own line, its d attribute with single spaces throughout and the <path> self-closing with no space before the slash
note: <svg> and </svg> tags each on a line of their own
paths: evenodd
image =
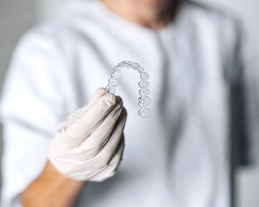
<svg viewBox="0 0 259 207">
<path fill-rule="evenodd" d="M 49 145 L 50 161 L 21 194 L 25 207 L 71 206 L 83 181 L 100 182 L 115 174 L 126 114 L 122 100 L 104 92 L 99 88 L 87 105 L 61 122 Z"/>
</svg>

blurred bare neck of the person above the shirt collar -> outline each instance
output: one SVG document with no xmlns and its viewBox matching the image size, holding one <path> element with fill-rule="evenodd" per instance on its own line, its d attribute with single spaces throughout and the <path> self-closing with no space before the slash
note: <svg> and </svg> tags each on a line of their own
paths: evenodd
<svg viewBox="0 0 259 207">
<path fill-rule="evenodd" d="M 101 0 L 122 18 L 154 30 L 161 29 L 174 20 L 178 1 L 164 1 L 147 5 L 132 0 Z"/>
</svg>

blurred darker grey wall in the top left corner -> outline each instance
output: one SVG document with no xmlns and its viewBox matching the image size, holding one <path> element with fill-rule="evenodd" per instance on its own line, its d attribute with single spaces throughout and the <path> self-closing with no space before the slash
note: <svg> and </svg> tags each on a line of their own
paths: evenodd
<svg viewBox="0 0 259 207">
<path fill-rule="evenodd" d="M 33 0 L 2 0 L 0 3 L 0 83 L 18 38 L 36 23 Z"/>
</svg>

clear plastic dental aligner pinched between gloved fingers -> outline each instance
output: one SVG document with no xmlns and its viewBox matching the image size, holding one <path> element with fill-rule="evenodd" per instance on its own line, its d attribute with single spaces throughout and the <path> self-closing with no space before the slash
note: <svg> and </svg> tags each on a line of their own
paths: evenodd
<svg viewBox="0 0 259 207">
<path fill-rule="evenodd" d="M 121 68 L 132 68 L 133 70 L 136 70 L 140 74 L 140 82 L 139 87 L 141 88 L 139 90 L 139 116 L 142 118 L 149 117 L 151 111 L 148 108 L 150 105 L 151 99 L 147 96 L 149 94 L 148 90 L 148 78 L 149 75 L 147 72 L 145 72 L 144 68 L 142 68 L 138 63 L 130 62 L 130 61 L 123 61 L 119 63 L 117 66 L 113 68 L 114 72 L 111 74 L 111 78 L 108 80 L 108 85 L 105 88 L 105 92 L 110 94 L 115 94 L 116 89 L 115 87 L 118 85 L 118 80 L 120 79 L 120 72 Z"/>
</svg>

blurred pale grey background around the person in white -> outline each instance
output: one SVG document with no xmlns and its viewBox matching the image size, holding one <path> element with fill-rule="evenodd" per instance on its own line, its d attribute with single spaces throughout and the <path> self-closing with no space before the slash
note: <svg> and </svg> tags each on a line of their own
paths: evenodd
<svg viewBox="0 0 259 207">
<path fill-rule="evenodd" d="M 258 0 L 195 0 L 227 10 L 254 33 L 259 48 Z M 2 0 L 0 4 L 0 86 L 8 68 L 13 48 L 19 37 L 30 27 L 51 18 L 66 0 Z M 259 53 L 257 52 L 258 60 Z M 257 61 L 259 62 L 259 61 Z M 0 144 L 1 148 L 2 144 Z M 1 149 L 0 149 L 1 150 Z M 235 173 L 237 207 L 259 206 L 259 166 L 239 167 Z"/>
</svg>

